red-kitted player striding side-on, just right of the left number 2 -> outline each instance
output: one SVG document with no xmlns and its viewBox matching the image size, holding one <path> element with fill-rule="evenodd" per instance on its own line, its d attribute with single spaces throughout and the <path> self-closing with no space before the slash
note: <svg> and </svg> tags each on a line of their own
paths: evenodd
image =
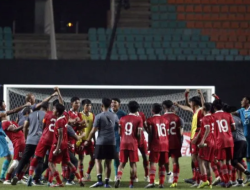
<svg viewBox="0 0 250 190">
<path fill-rule="evenodd" d="M 68 120 L 63 114 L 64 110 L 65 107 L 62 104 L 57 104 L 56 108 L 53 109 L 53 113 L 54 115 L 56 115 L 57 121 L 54 128 L 53 144 L 49 154 L 49 168 L 51 170 L 49 184 L 52 184 L 53 177 L 55 177 L 57 184 L 54 185 L 54 187 L 63 187 L 59 173 L 56 171 L 56 164 L 62 162 L 62 164 L 67 164 L 71 172 L 75 174 L 80 183 L 80 186 L 84 186 L 80 175 L 76 171 L 76 167 L 70 162 L 67 134 Z"/>
</svg>

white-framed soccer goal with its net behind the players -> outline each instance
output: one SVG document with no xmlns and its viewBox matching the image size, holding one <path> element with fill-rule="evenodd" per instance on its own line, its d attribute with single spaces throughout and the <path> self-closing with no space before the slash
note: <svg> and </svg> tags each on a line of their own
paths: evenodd
<svg viewBox="0 0 250 190">
<path fill-rule="evenodd" d="M 152 115 L 151 106 L 153 103 L 172 100 L 184 104 L 185 89 L 190 89 L 190 97 L 197 96 L 197 89 L 200 89 L 208 102 L 213 100 L 212 94 L 215 93 L 214 86 L 4 85 L 4 100 L 7 109 L 25 104 L 25 96 L 28 93 L 34 94 L 36 102 L 40 102 L 53 93 L 55 86 L 59 87 L 67 110 L 70 109 L 70 99 L 73 96 L 77 96 L 81 100 L 90 99 L 94 114 L 101 112 L 101 99 L 103 97 L 117 97 L 121 99 L 121 109 L 125 112 L 128 112 L 127 103 L 129 101 L 137 101 L 140 104 L 140 111 L 144 112 L 147 118 Z M 176 113 L 184 120 L 184 132 L 189 132 L 192 113 L 178 108 L 176 108 Z M 16 115 L 12 115 L 10 119 L 15 120 Z"/>
</svg>

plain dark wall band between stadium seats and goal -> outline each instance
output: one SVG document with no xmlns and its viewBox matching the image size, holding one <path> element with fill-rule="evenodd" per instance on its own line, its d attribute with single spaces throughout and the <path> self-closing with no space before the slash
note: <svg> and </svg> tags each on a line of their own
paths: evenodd
<svg viewBox="0 0 250 190">
<path fill-rule="evenodd" d="M 250 95 L 248 62 L 0 60 L 0 65 L 2 85 L 215 86 L 237 107 Z"/>
</svg>

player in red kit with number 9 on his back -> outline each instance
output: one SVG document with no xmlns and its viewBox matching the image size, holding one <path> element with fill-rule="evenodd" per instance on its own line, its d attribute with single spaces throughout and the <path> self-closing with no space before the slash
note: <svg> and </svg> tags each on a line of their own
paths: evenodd
<svg viewBox="0 0 250 190">
<path fill-rule="evenodd" d="M 115 188 L 120 186 L 123 169 L 130 161 L 130 188 L 134 186 L 134 179 L 137 172 L 136 162 L 139 161 L 138 157 L 138 140 L 140 142 L 141 131 L 143 128 L 142 118 L 138 117 L 137 112 L 139 104 L 136 101 L 128 103 L 130 114 L 120 119 L 120 165 L 118 167 L 117 180 Z"/>
</svg>

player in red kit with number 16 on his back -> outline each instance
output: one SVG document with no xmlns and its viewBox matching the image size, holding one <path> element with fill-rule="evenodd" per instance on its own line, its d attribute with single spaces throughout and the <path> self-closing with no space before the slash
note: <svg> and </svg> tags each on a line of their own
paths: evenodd
<svg viewBox="0 0 250 190">
<path fill-rule="evenodd" d="M 168 130 L 169 130 L 169 123 L 168 121 L 163 118 L 161 113 L 161 105 L 160 104 L 153 104 L 152 113 L 154 114 L 153 117 L 147 120 L 147 127 L 149 131 L 149 161 L 150 161 L 150 172 L 149 178 L 150 183 L 145 188 L 153 188 L 155 187 L 154 180 L 155 180 L 155 173 L 156 173 L 156 166 L 155 164 L 159 164 L 159 177 L 160 177 L 160 184 L 159 188 L 163 188 L 163 184 L 165 181 L 165 165 L 168 163 L 168 151 L 169 151 L 169 142 L 168 142 Z"/>
</svg>

